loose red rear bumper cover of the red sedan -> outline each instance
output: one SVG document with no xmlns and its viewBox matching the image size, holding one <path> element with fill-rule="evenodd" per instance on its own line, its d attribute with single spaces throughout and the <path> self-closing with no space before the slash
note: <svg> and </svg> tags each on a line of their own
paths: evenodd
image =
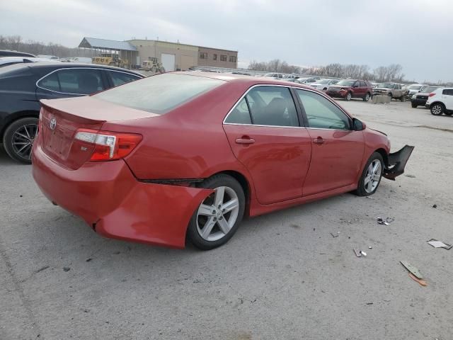
<svg viewBox="0 0 453 340">
<path fill-rule="evenodd" d="M 210 190 L 137 181 L 125 162 L 62 168 L 33 148 L 33 178 L 53 203 L 78 215 L 99 234 L 183 248 L 195 208 Z"/>
</svg>

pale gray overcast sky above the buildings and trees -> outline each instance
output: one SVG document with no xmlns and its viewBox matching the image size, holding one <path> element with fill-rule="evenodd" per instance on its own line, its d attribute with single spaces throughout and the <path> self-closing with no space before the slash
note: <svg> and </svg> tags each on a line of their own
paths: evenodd
<svg viewBox="0 0 453 340">
<path fill-rule="evenodd" d="M 418 81 L 453 81 L 452 18 L 450 0 L 0 1 L 0 34 L 25 40 L 159 37 L 238 50 L 240 67 L 397 63 Z"/>
</svg>

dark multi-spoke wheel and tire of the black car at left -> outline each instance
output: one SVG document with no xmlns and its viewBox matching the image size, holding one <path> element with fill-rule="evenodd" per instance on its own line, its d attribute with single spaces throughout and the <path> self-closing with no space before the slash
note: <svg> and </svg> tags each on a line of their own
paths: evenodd
<svg viewBox="0 0 453 340">
<path fill-rule="evenodd" d="M 24 164 L 31 163 L 31 150 L 38 134 L 38 118 L 21 118 L 6 128 L 3 145 L 9 157 Z"/>
</svg>

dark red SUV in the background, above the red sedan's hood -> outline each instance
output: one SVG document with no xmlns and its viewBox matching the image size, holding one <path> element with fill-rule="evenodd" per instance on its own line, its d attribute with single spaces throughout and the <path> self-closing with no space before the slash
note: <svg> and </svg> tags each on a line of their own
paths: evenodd
<svg viewBox="0 0 453 340">
<path fill-rule="evenodd" d="M 343 79 L 337 84 L 328 86 L 326 94 L 333 98 L 343 98 L 350 101 L 352 98 L 362 98 L 369 101 L 373 93 L 373 86 L 369 81 L 360 79 Z"/>
</svg>

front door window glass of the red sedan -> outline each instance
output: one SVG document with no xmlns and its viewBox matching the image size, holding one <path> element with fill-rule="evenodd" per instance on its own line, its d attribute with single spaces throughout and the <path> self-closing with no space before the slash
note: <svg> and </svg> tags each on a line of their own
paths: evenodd
<svg viewBox="0 0 453 340">
<path fill-rule="evenodd" d="M 348 117 L 335 104 L 311 91 L 296 90 L 302 101 L 309 128 L 349 130 Z"/>
</svg>

